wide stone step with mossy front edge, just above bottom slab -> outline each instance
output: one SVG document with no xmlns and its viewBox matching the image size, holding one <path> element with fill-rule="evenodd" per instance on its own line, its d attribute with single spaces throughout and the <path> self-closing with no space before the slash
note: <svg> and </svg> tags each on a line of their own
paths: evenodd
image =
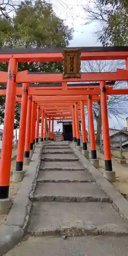
<svg viewBox="0 0 128 256">
<path fill-rule="evenodd" d="M 35 236 L 108 234 L 118 237 L 128 234 L 128 226 L 109 203 L 34 202 L 28 232 Z"/>
</svg>

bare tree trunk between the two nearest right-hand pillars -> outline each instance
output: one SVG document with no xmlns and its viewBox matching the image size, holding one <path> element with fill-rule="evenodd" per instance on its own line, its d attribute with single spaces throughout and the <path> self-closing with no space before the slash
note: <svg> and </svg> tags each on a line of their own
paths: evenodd
<svg viewBox="0 0 128 256">
<path fill-rule="evenodd" d="M 99 146 L 100 145 L 100 134 L 102 131 L 102 120 L 101 120 L 101 106 L 100 106 L 100 101 L 98 101 L 98 106 L 99 106 L 99 114 L 98 117 L 96 117 L 97 121 L 97 134 L 96 134 L 96 144 Z"/>
</svg>

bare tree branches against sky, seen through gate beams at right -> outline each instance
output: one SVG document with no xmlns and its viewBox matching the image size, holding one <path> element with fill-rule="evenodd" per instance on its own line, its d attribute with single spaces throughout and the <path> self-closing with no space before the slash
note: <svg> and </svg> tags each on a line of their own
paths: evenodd
<svg viewBox="0 0 128 256">
<path fill-rule="evenodd" d="M 82 61 L 81 69 L 82 72 L 115 72 L 117 68 L 125 69 L 125 62 L 119 60 L 95 60 L 95 61 Z M 127 81 L 117 81 L 114 88 L 126 88 Z M 113 116 L 124 119 L 124 114 L 127 113 L 128 107 L 128 96 L 127 95 L 109 95 L 108 100 L 108 115 L 110 118 Z M 96 142 L 100 144 L 101 134 L 101 108 L 100 101 L 93 103 L 93 114 L 94 120 L 97 122 L 97 135 Z"/>
</svg>

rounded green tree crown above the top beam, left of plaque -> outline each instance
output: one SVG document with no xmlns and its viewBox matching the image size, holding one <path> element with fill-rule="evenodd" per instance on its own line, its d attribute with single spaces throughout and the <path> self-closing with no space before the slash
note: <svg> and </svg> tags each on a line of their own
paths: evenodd
<svg viewBox="0 0 128 256">
<path fill-rule="evenodd" d="M 22 2 L 12 20 L 11 37 L 4 45 L 8 47 L 66 47 L 72 39 L 69 29 L 45 1 Z"/>
</svg>

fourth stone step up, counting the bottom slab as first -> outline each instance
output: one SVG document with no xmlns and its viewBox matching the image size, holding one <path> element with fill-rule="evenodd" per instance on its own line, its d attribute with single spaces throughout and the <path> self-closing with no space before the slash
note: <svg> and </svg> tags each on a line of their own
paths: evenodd
<svg viewBox="0 0 128 256">
<path fill-rule="evenodd" d="M 39 172 L 37 182 L 94 182 L 94 178 L 86 170 L 63 170 L 61 172 L 47 170 Z"/>
</svg>

